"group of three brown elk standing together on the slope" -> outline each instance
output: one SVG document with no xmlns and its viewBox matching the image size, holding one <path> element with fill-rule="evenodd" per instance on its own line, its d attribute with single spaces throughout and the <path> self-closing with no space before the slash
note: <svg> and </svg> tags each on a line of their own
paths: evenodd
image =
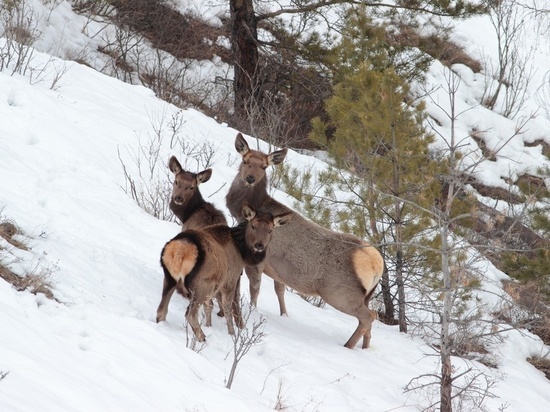
<svg viewBox="0 0 550 412">
<path fill-rule="evenodd" d="M 206 202 L 199 185 L 212 170 L 183 170 L 176 157 L 169 161 L 174 174 L 170 209 L 182 223 L 182 231 L 161 252 L 164 271 L 157 322 L 166 319 L 174 291 L 190 300 L 186 319 L 198 341 L 204 341 L 198 314 L 204 306 L 206 326 L 211 326 L 213 299 L 227 330 L 233 320 L 243 328 L 240 277 L 249 279 L 250 299 L 257 305 L 261 275 L 274 280 L 281 315 L 287 315 L 285 289 L 320 296 L 326 303 L 359 321 L 345 347 L 354 348 L 361 338 L 368 348 L 376 313 L 369 300 L 384 271 L 378 250 L 363 240 L 313 223 L 268 194 L 266 169 L 283 162 L 287 149 L 269 154 L 252 150 L 237 134 L 235 149 L 242 161 L 226 196 L 226 206 L 238 222 L 229 227 L 222 211 Z"/>
</svg>

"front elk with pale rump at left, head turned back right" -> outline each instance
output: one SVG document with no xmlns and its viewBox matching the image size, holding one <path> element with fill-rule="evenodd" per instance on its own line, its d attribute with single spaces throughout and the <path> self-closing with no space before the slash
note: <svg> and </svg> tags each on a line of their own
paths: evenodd
<svg viewBox="0 0 550 412">
<path fill-rule="evenodd" d="M 291 216 L 290 213 L 277 216 L 256 213 L 247 205 L 243 205 L 241 210 L 244 221 L 235 227 L 218 224 L 188 229 L 166 243 L 160 258 L 164 286 L 157 322 L 166 319 L 168 301 L 177 288 L 190 300 L 185 317 L 199 342 L 205 341 L 205 335 L 198 321 L 198 312 L 201 305 L 205 305 L 208 319 L 214 296 L 220 297 L 228 333 L 235 333 L 231 314 L 238 327 L 244 326 L 236 299 L 243 268 L 262 262 L 273 229 L 287 223 Z"/>
</svg>

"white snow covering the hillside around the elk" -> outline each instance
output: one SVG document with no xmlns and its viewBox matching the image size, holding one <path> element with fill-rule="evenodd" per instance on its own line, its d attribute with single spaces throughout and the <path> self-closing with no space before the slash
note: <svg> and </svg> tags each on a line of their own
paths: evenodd
<svg viewBox="0 0 550 412">
<path fill-rule="evenodd" d="M 67 3 L 57 8 L 44 44 L 62 37 L 82 41 Z M 214 317 L 213 326 L 204 328 L 207 345 L 198 352 L 187 348 L 187 301 L 181 296 L 172 298 L 167 321 L 155 322 L 163 278 L 160 251 L 180 228 L 147 214 L 123 190 L 119 153 L 135 175 L 131 150 L 166 119 L 181 116 L 182 138 L 207 142 L 216 152 L 212 179 L 201 191 L 228 214 L 224 197 L 238 165 L 237 131 L 75 62 L 35 52 L 32 64 L 55 64 L 66 72 L 54 88 L 55 70 L 32 82 L 0 73 L 0 213 L 22 229 L 19 240 L 29 248 L 15 250 L 3 242 L 8 249 L 0 258 L 21 275 L 51 273 L 56 300 L 18 292 L 0 279 L 0 372 L 9 372 L 0 381 L 0 410 L 256 412 L 282 404 L 292 411 L 408 412 L 426 405 L 422 394 L 404 392 L 411 379 L 438 370 L 437 357 L 426 356 L 434 351 L 422 340 L 376 321 L 369 349 L 346 349 L 342 345 L 356 327 L 354 318 L 291 293 L 290 316 L 280 317 L 273 282 L 266 277 L 258 309 L 248 320 L 250 327 L 265 319 L 266 336 L 243 357 L 226 389 L 233 341 L 223 319 Z M 433 82 L 442 81 L 442 70 L 432 70 Z M 474 77 L 461 89 L 463 108 L 476 95 Z M 492 116 L 476 107 L 460 124 L 460 135 L 478 124 L 495 133 L 497 146 L 514 125 Z M 542 120 L 533 123 L 529 133 L 545 136 L 542 125 Z M 247 139 L 255 147 L 253 138 Z M 160 147 L 162 164 L 172 154 L 185 160 L 168 140 Z M 500 161 L 502 166 L 483 169 L 487 182 L 499 182 L 507 168 L 518 173 L 545 162 L 535 148 L 518 153 L 515 146 Z M 324 167 L 294 151 L 286 162 Z M 188 163 L 195 172 L 201 166 Z M 274 194 L 291 204 L 283 193 Z M 489 264 L 485 270 L 496 287 L 503 274 Z M 241 289 L 247 299 L 246 277 Z M 494 350 L 498 368 L 475 363 L 496 381 L 488 410 L 501 405 L 510 412 L 550 410 L 550 382 L 525 361 L 548 348 L 525 331 L 511 331 Z"/>
</svg>

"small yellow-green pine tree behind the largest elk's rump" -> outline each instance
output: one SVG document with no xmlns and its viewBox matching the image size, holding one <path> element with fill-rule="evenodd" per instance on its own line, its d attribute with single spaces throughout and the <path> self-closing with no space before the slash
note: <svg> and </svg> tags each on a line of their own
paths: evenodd
<svg viewBox="0 0 550 412">
<path fill-rule="evenodd" d="M 350 49 L 340 56 L 356 59 L 358 54 L 351 50 L 357 45 L 346 46 Z M 407 83 L 386 66 L 381 54 L 376 57 L 374 62 L 357 62 L 355 69 L 343 64 L 346 75 L 326 102 L 330 120 L 314 120 L 311 137 L 325 144 L 337 166 L 352 174 L 341 180 L 354 195 L 339 214 L 341 229 L 385 244 L 387 266 L 394 274 L 393 281 L 388 274 L 382 280 L 385 315 L 394 317 L 397 300 L 400 330 L 406 332 L 405 275 L 420 263 L 418 246 L 412 243 L 429 227 L 422 207 L 431 207 L 441 192 L 435 178 L 441 166 L 430 159 L 432 137 L 422 127 L 422 106 L 407 104 Z M 333 131 L 328 137 L 327 130 Z"/>
</svg>

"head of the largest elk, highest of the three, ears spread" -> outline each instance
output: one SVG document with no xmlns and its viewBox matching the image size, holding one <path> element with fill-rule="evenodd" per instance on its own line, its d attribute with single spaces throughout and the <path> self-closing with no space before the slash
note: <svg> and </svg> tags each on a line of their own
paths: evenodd
<svg viewBox="0 0 550 412">
<path fill-rule="evenodd" d="M 282 163 L 287 153 L 286 148 L 268 155 L 258 150 L 252 150 L 241 133 L 237 134 L 235 139 L 235 149 L 242 156 L 238 176 L 246 186 L 254 186 L 260 182 L 265 177 L 265 170 L 269 166 Z"/>
</svg>

